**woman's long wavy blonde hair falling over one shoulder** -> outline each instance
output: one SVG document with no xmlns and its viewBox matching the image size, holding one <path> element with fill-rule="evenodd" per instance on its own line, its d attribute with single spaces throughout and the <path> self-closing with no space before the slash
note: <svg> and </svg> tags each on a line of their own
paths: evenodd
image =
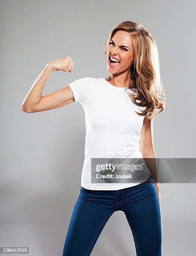
<svg viewBox="0 0 196 256">
<path fill-rule="evenodd" d="M 157 44 L 142 24 L 124 21 L 110 32 L 107 43 L 104 44 L 104 54 L 107 54 L 109 42 L 118 30 L 130 33 L 134 49 L 129 86 L 133 94 L 127 93 L 135 105 L 144 107 L 141 113 L 136 113 L 151 119 L 154 114 L 158 116 L 161 111 L 165 110 L 165 101 L 161 97 L 166 98 L 160 77 Z"/>
</svg>

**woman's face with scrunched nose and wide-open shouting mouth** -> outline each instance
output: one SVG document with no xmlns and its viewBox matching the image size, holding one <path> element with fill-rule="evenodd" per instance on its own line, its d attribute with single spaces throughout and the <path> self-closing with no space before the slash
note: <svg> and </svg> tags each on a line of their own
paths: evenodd
<svg viewBox="0 0 196 256">
<path fill-rule="evenodd" d="M 120 62 L 112 61 L 110 59 L 111 56 Z M 130 67 L 133 61 L 134 50 L 130 33 L 119 30 L 111 38 L 109 47 L 107 49 L 107 71 L 111 74 L 126 71 L 130 72 Z"/>
</svg>

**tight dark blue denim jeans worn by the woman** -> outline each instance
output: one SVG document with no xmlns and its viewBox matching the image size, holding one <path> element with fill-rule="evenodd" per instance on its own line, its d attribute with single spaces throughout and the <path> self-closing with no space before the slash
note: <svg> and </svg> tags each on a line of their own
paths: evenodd
<svg viewBox="0 0 196 256">
<path fill-rule="evenodd" d="M 161 256 L 160 205 L 151 176 L 145 182 L 119 190 L 81 187 L 71 215 L 63 256 L 89 256 L 115 211 L 125 213 L 137 256 Z"/>
</svg>

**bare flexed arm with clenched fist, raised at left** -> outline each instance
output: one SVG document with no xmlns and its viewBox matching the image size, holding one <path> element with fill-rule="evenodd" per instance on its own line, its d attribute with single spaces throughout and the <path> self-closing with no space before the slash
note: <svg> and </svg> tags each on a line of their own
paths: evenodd
<svg viewBox="0 0 196 256">
<path fill-rule="evenodd" d="M 64 72 L 72 72 L 73 67 L 74 63 L 70 56 L 48 62 L 23 100 L 20 107 L 21 110 L 26 113 L 34 113 L 60 108 L 74 102 L 74 95 L 69 86 L 46 95 L 42 95 L 43 87 L 53 71 L 63 70 Z"/>
</svg>

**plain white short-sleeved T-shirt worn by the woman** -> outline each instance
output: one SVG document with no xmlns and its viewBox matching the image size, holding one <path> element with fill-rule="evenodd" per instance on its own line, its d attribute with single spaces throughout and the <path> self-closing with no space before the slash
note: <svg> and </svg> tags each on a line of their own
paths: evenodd
<svg viewBox="0 0 196 256">
<path fill-rule="evenodd" d="M 105 77 L 84 77 L 69 84 L 75 102 L 84 108 L 86 137 L 81 186 L 93 190 L 118 190 L 140 183 L 91 183 L 91 158 L 143 158 L 140 152 L 142 107 L 132 103 L 125 87 Z M 132 91 L 128 89 L 130 93 Z"/>
</svg>

